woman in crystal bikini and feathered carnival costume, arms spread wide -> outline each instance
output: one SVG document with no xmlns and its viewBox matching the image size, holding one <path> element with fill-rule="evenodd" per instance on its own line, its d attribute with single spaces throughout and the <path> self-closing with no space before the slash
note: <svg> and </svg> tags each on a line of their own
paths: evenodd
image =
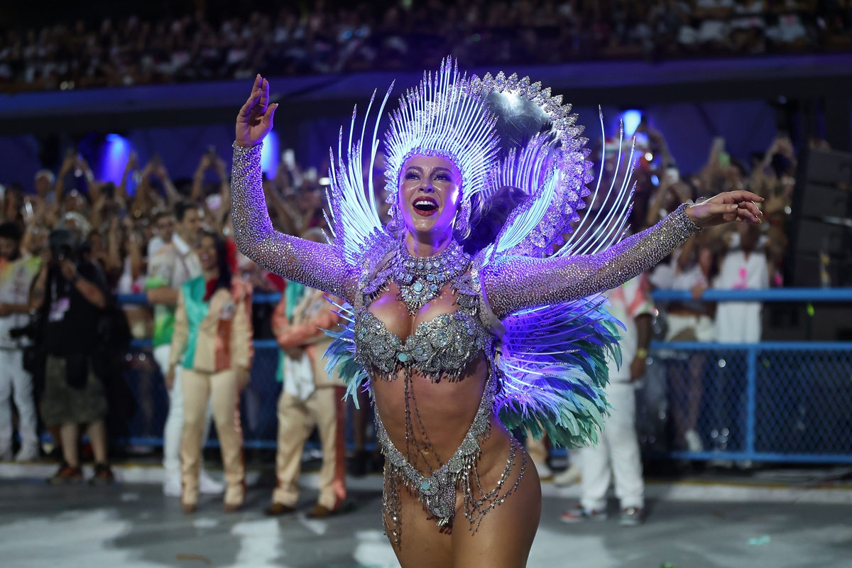
<svg viewBox="0 0 852 568">
<path fill-rule="evenodd" d="M 682 205 L 613 244 L 629 213 L 622 186 L 617 204 L 589 224 L 600 230 L 563 243 L 592 178 L 576 115 L 527 77 L 467 77 L 448 59 L 391 114 L 392 221 L 379 221 L 364 171 L 379 146 L 378 119 L 365 146 L 367 119 L 356 126 L 353 116 L 346 147 L 341 129 L 332 155 L 334 244 L 314 243 L 269 221 L 261 142 L 278 105 L 268 100 L 258 76 L 237 118 L 234 235 L 262 267 L 347 302 L 340 312 L 349 325 L 327 368 L 337 368 L 348 393 L 369 389 L 376 405 L 384 526 L 400 565 L 526 565 L 541 489 L 509 431 L 594 443 L 607 411 L 607 355 L 618 356 L 617 323 L 598 294 L 653 267 L 700 227 L 760 222 L 752 202 L 761 198 L 728 192 Z M 469 255 L 471 217 L 505 186 L 527 198 L 492 243 Z"/>
</svg>

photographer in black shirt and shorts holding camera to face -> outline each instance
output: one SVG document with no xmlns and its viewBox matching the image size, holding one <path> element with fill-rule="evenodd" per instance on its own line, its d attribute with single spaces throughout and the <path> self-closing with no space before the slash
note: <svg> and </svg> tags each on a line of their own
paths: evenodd
<svg viewBox="0 0 852 568">
<path fill-rule="evenodd" d="M 47 355 L 42 412 L 48 427 L 60 427 L 65 462 L 50 478 L 55 485 L 82 481 L 79 427 L 88 425 L 95 453 L 95 484 L 112 483 L 107 464 L 107 396 L 92 370 L 98 322 L 107 307 L 107 285 L 100 269 L 78 256 L 78 241 L 66 228 L 50 232 L 49 253 L 32 287 L 30 306 L 43 316 Z"/>
</svg>

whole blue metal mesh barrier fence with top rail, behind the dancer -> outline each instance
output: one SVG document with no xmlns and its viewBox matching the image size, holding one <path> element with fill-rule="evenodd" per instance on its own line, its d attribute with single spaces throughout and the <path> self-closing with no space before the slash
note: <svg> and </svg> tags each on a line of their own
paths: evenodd
<svg viewBox="0 0 852 568">
<path fill-rule="evenodd" d="M 688 292 L 686 293 L 688 295 Z M 691 296 L 690 296 L 691 297 Z M 256 304 L 278 294 L 257 294 Z M 687 299 L 658 291 L 658 301 Z M 708 290 L 708 301 L 852 301 L 846 289 Z M 144 295 L 122 295 L 144 304 Z M 694 460 L 852 462 L 852 343 L 654 342 L 639 403 L 639 433 L 649 455 Z M 162 445 L 168 395 L 151 342 L 134 341 L 127 382 L 136 409 L 124 440 Z M 240 401 L 245 447 L 272 449 L 277 434 L 279 348 L 255 340 L 251 381 Z M 687 430 L 702 451 L 688 451 Z M 216 445 L 216 442 L 211 442 Z"/>
</svg>

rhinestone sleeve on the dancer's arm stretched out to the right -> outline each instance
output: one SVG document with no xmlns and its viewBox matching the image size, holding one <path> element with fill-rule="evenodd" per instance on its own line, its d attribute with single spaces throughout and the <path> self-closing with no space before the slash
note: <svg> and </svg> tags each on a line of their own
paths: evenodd
<svg viewBox="0 0 852 568">
<path fill-rule="evenodd" d="M 699 227 L 685 205 L 646 231 L 596 255 L 507 256 L 487 266 L 485 291 L 498 318 L 523 308 L 572 301 L 624 284 L 669 255 Z"/>
</svg>

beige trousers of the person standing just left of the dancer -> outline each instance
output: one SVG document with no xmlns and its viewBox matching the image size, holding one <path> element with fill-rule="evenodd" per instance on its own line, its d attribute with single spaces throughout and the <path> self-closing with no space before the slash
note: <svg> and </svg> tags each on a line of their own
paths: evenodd
<svg viewBox="0 0 852 568">
<path fill-rule="evenodd" d="M 272 501 L 295 507 L 299 500 L 302 448 L 316 426 L 322 444 L 319 504 L 332 511 L 346 499 L 346 446 L 343 428 L 346 410 L 343 387 L 317 388 L 307 400 L 281 391 L 278 399 L 278 452 L 275 475 L 278 485 Z"/>
</svg>

